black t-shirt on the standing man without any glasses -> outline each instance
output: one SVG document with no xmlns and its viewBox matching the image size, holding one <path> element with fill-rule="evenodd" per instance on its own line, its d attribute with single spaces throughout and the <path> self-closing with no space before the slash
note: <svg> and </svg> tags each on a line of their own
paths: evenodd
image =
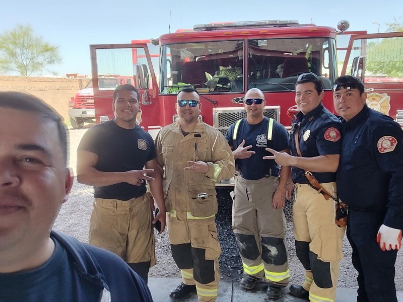
<svg viewBox="0 0 403 302">
<path fill-rule="evenodd" d="M 153 138 L 139 125 L 125 129 L 116 125 L 114 120 L 95 125 L 88 129 L 80 141 L 78 150 L 98 155 L 95 167 L 103 172 L 124 172 L 142 170 L 146 162 L 156 158 Z M 94 196 L 129 200 L 146 193 L 146 184 L 134 186 L 118 183 L 105 187 L 94 187 Z"/>
</svg>

